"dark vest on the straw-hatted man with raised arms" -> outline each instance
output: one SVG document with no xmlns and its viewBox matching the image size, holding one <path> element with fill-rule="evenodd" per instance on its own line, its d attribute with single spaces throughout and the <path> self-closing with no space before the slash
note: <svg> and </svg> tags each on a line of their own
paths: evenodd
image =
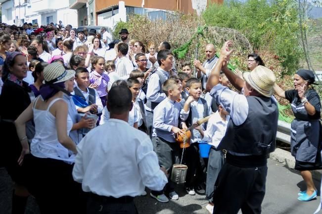
<svg viewBox="0 0 322 214">
<path fill-rule="evenodd" d="M 239 126 L 231 118 L 217 150 L 249 155 L 266 155 L 275 150 L 278 120 L 277 104 L 267 97 L 246 97 L 248 115 Z"/>
</svg>

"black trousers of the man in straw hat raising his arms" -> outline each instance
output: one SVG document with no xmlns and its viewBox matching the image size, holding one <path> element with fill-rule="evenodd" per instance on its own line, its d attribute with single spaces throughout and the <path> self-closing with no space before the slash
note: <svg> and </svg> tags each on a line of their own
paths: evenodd
<svg viewBox="0 0 322 214">
<path fill-rule="evenodd" d="M 214 213 L 260 214 L 265 196 L 267 164 L 240 167 L 229 163 L 221 169 L 214 187 Z"/>
</svg>

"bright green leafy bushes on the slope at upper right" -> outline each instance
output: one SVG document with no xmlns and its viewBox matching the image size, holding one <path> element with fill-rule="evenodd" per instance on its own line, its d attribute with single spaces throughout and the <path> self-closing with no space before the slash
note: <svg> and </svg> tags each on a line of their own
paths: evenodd
<svg viewBox="0 0 322 214">
<path fill-rule="evenodd" d="M 299 66 L 303 52 L 299 44 L 298 9 L 294 0 L 247 0 L 211 4 L 203 13 L 209 26 L 236 29 L 257 51 L 276 54 L 284 70 L 292 74 Z"/>
</svg>

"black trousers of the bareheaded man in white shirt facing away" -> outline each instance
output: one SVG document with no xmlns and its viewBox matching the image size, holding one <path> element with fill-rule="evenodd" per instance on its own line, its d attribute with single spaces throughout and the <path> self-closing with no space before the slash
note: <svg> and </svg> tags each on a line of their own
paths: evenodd
<svg viewBox="0 0 322 214">
<path fill-rule="evenodd" d="M 90 193 L 87 214 L 138 214 L 133 197 L 112 198 Z"/>
</svg>

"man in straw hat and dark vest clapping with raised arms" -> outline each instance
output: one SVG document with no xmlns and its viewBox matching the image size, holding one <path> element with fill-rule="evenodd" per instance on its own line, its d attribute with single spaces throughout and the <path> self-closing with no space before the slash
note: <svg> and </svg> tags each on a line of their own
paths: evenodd
<svg viewBox="0 0 322 214">
<path fill-rule="evenodd" d="M 244 80 L 227 68 L 232 42 L 224 44 L 207 90 L 230 113 L 227 131 L 217 150 L 227 150 L 214 188 L 214 214 L 261 213 L 265 196 L 267 156 L 275 150 L 278 109 L 272 96 L 275 75 L 257 66 Z M 243 95 L 218 84 L 220 70 Z"/>
</svg>

